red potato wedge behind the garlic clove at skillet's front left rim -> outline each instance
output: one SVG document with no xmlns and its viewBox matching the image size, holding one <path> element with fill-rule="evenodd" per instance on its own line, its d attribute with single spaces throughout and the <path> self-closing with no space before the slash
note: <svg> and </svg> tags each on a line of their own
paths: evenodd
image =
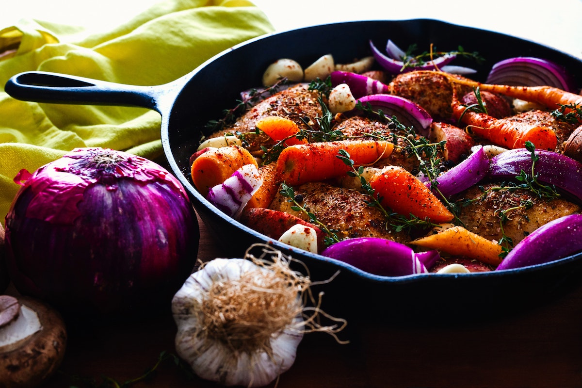
<svg viewBox="0 0 582 388">
<path fill-rule="evenodd" d="M 274 240 L 279 240 L 279 237 L 293 225 L 310 226 L 317 234 L 318 251 L 321 252 L 324 248 L 325 232 L 317 225 L 289 213 L 265 208 L 249 208 L 243 211 L 240 222 Z"/>
</svg>

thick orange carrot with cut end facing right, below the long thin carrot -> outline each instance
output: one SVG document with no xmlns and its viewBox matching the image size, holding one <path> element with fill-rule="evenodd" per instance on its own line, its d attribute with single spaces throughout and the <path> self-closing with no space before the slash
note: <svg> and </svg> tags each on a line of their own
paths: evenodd
<svg viewBox="0 0 582 388">
<path fill-rule="evenodd" d="M 496 119 L 485 113 L 467 111 L 466 107 L 453 98 L 453 115 L 469 126 L 471 132 L 497 145 L 508 148 L 524 148 L 531 141 L 535 148 L 554 151 L 558 144 L 556 133 L 544 126 Z"/>
</svg>

